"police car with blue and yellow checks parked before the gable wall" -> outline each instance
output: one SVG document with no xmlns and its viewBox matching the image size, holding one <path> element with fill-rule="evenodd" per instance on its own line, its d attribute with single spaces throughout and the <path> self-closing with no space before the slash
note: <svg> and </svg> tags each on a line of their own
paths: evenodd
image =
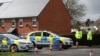
<svg viewBox="0 0 100 56">
<path fill-rule="evenodd" d="M 64 49 L 67 49 L 73 45 L 73 40 L 71 38 L 61 37 L 50 31 L 30 32 L 26 35 L 26 39 L 32 41 L 35 46 L 37 45 L 38 49 L 49 46 L 54 40 L 60 40 Z"/>
</svg>

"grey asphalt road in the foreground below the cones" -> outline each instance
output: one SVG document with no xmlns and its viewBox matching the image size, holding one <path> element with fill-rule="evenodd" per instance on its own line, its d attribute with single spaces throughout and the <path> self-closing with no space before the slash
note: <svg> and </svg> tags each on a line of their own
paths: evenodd
<svg viewBox="0 0 100 56">
<path fill-rule="evenodd" d="M 90 51 L 92 50 L 92 52 Z M 44 48 L 38 50 L 38 52 L 29 51 L 29 52 L 21 52 L 26 56 L 90 56 L 90 52 L 93 54 L 92 56 L 100 56 L 100 47 L 86 47 L 81 46 L 79 48 L 69 48 L 62 51 L 50 51 L 48 48 Z"/>
</svg>

